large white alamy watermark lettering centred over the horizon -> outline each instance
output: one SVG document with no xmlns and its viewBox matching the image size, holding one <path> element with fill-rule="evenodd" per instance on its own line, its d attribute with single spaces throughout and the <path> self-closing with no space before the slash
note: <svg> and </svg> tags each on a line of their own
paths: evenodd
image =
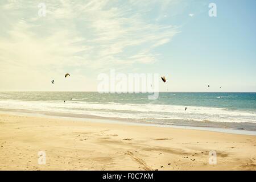
<svg viewBox="0 0 256 182">
<path fill-rule="evenodd" d="M 159 96 L 158 73 L 100 73 L 97 78 L 98 93 L 148 93 L 148 99 L 156 100 Z"/>
</svg>

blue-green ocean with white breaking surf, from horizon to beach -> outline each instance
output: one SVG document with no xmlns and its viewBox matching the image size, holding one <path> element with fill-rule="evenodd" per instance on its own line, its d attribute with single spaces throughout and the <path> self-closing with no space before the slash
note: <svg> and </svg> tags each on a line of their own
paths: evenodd
<svg viewBox="0 0 256 182">
<path fill-rule="evenodd" d="M 0 110 L 256 131 L 256 93 L 0 92 Z"/>
</svg>

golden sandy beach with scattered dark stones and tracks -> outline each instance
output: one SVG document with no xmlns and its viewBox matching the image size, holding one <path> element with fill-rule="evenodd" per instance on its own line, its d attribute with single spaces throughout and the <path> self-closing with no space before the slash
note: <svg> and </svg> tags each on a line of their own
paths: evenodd
<svg viewBox="0 0 256 182">
<path fill-rule="evenodd" d="M 0 170 L 255 169 L 255 136 L 0 114 Z"/>
</svg>

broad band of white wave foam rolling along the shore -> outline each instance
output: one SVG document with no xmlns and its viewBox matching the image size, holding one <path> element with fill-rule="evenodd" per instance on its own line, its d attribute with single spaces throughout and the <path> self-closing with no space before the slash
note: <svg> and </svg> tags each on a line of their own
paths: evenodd
<svg viewBox="0 0 256 182">
<path fill-rule="evenodd" d="M 229 110 L 217 107 L 198 107 L 156 104 L 117 104 L 108 102 L 66 101 L 15 101 L 2 100 L 0 108 L 51 111 L 70 114 L 89 114 L 100 117 L 130 119 L 184 119 L 213 122 L 251 122 L 256 123 L 256 111 Z"/>
</svg>

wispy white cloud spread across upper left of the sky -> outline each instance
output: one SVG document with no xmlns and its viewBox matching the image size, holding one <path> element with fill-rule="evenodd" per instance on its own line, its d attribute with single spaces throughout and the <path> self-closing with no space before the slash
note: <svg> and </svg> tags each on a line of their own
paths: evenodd
<svg viewBox="0 0 256 182">
<path fill-rule="evenodd" d="M 35 1 L 0 3 L 1 75 L 6 69 L 54 75 L 67 68 L 80 72 L 152 64 L 159 55 L 155 48 L 179 32 L 148 18 L 156 5 L 161 11 L 170 1 L 44 2 L 45 17 L 38 16 Z"/>
</svg>

